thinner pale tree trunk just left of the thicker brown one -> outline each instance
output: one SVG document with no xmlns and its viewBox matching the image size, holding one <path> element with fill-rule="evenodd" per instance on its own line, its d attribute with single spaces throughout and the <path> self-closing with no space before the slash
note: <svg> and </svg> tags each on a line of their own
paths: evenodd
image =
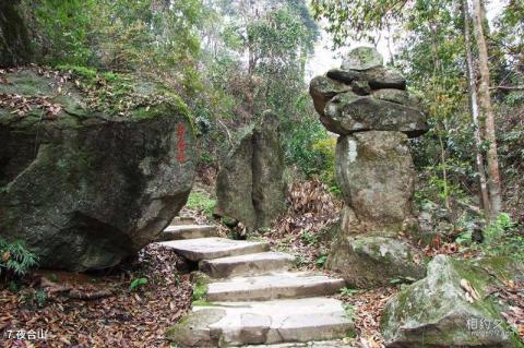
<svg viewBox="0 0 524 348">
<path fill-rule="evenodd" d="M 478 117 L 478 100 L 477 100 L 477 89 L 475 85 L 475 67 L 473 65 L 473 55 L 472 55 L 472 35 L 469 28 L 469 14 L 467 11 L 467 0 L 462 0 L 462 14 L 464 17 L 464 44 L 466 48 L 466 68 L 467 68 L 467 84 L 469 88 L 469 112 L 472 113 L 473 127 L 474 127 L 474 137 L 476 145 L 476 164 L 478 170 L 478 181 L 480 185 L 480 202 L 484 207 L 484 215 L 489 219 L 490 215 L 490 203 L 489 203 L 489 193 L 488 185 L 486 180 L 486 169 L 484 167 L 484 156 L 483 156 L 483 136 L 480 134 L 480 122 Z"/>
</svg>

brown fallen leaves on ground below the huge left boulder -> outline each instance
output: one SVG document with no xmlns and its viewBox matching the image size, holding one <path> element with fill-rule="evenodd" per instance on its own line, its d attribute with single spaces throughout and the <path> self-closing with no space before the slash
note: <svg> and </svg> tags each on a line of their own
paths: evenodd
<svg viewBox="0 0 524 348">
<path fill-rule="evenodd" d="M 180 262 L 172 251 L 148 245 L 133 265 L 109 275 L 49 272 L 36 277 L 38 286 L 26 287 L 16 295 L 1 290 L 3 344 L 53 348 L 169 347 L 164 333 L 191 302 L 189 275 L 177 271 Z M 49 278 L 57 277 L 50 285 Z M 131 280 L 139 277 L 147 278 L 147 284 L 131 291 Z M 51 291 L 57 287 L 63 291 Z M 41 291 L 47 296 L 46 303 L 38 303 Z M 96 296 L 99 291 L 106 291 L 102 298 Z M 73 296 L 64 296 L 71 292 Z M 72 299 L 74 293 L 83 300 Z M 22 329 L 47 331 L 47 339 L 16 340 L 16 331 Z M 9 331 L 12 337 L 7 339 Z"/>
</svg>

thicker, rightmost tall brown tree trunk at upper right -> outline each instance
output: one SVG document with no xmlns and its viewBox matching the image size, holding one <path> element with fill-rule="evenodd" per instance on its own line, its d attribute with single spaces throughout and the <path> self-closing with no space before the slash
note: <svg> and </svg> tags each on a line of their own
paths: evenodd
<svg viewBox="0 0 524 348">
<path fill-rule="evenodd" d="M 495 115 L 491 106 L 491 96 L 489 93 L 489 67 L 488 49 L 484 36 L 485 22 L 483 11 L 483 0 L 473 0 L 473 27 L 478 49 L 478 65 L 480 73 L 480 85 L 478 87 L 478 100 L 481 106 L 483 115 L 486 119 L 485 136 L 489 142 L 487 152 L 488 172 L 489 172 L 489 199 L 490 199 L 490 219 L 495 219 L 502 211 L 502 197 L 500 189 L 499 159 L 497 155 L 497 137 L 495 133 Z"/>
</svg>

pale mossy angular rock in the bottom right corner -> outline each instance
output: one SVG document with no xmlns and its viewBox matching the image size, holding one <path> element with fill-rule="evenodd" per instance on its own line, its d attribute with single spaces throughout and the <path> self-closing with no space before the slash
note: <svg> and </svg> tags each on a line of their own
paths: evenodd
<svg viewBox="0 0 524 348">
<path fill-rule="evenodd" d="M 522 280 L 522 276 L 523 265 L 504 257 L 472 265 L 438 255 L 426 278 L 388 302 L 381 321 L 385 346 L 522 347 L 500 314 L 496 297 L 488 293 L 490 285 L 515 277 Z"/>
</svg>

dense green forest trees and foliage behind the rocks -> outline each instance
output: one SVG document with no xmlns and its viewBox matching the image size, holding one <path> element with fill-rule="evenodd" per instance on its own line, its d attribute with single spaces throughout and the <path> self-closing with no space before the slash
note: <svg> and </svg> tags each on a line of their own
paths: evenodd
<svg viewBox="0 0 524 348">
<path fill-rule="evenodd" d="M 483 25 L 489 93 L 503 211 L 522 221 L 524 3 L 499 4 L 502 9 Z M 472 76 L 476 86 L 481 81 L 476 33 L 464 5 L 441 0 L 349 7 L 305 0 L 21 2 L 38 63 L 78 73 L 133 72 L 176 89 L 198 128 L 202 180 L 213 181 L 242 127 L 271 108 L 282 120 L 289 178 L 319 176 L 334 194 L 335 141 L 318 122 L 307 93 L 318 23 L 327 23 L 335 47 L 356 40 L 373 45 L 386 33 L 394 47 L 388 64 L 407 76 L 431 123 L 430 133 L 412 141 L 420 177 L 417 203 L 439 204 L 453 223 L 461 218 L 455 211 L 481 211 L 479 178 L 490 168 L 486 159 L 483 168 L 477 160 L 489 157 L 493 143 L 483 134 L 484 113 L 477 125 L 472 120 L 468 83 Z"/>
</svg>

